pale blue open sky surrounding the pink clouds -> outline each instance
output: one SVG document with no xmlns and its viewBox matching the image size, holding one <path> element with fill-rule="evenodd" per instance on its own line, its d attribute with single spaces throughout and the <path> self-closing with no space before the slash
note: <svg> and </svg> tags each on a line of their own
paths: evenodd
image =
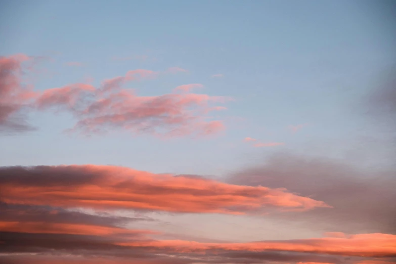
<svg viewBox="0 0 396 264">
<path fill-rule="evenodd" d="M 383 4 L 383 5 L 382 5 Z M 35 113 L 33 133 L 0 138 L 0 165 L 114 164 L 222 175 L 276 151 L 344 157 L 378 137 L 357 106 L 395 61 L 396 35 L 380 1 L 2 1 L 0 55 L 48 56 L 45 90 L 128 70 L 188 73 L 132 82 L 139 95 L 202 83 L 231 96 L 225 133 L 160 140 L 114 131 L 69 137 L 68 114 Z M 146 60 L 111 60 L 147 56 Z M 66 66 L 80 62 L 81 67 Z M 213 78 L 213 74 L 223 77 Z M 293 134 L 289 125 L 309 124 Z M 246 137 L 284 146 L 253 148 Z M 377 155 L 378 159 L 379 156 Z M 372 160 L 375 162 L 375 159 Z"/>
</svg>

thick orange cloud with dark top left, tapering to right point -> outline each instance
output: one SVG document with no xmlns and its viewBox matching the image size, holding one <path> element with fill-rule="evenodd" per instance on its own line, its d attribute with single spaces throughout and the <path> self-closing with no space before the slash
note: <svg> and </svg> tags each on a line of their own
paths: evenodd
<svg viewBox="0 0 396 264">
<path fill-rule="evenodd" d="M 0 184 L 0 200 L 15 204 L 229 214 L 266 208 L 329 207 L 285 189 L 231 185 L 117 166 L 1 167 Z"/>
</svg>

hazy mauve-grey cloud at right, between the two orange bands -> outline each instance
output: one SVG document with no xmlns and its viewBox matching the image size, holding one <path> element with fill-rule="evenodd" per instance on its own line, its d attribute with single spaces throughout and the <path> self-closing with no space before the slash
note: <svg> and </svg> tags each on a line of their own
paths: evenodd
<svg viewBox="0 0 396 264">
<path fill-rule="evenodd" d="M 262 165 L 234 173 L 229 181 L 287 188 L 333 206 L 276 214 L 284 220 L 309 223 L 334 232 L 395 234 L 395 176 L 393 171 L 362 171 L 331 159 L 278 154 Z"/>
</svg>

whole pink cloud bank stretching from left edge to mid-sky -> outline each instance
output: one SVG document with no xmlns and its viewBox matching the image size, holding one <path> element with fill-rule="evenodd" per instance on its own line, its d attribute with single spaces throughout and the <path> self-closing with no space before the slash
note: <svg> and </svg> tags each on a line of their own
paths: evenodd
<svg viewBox="0 0 396 264">
<path fill-rule="evenodd" d="M 114 128 L 128 130 L 133 134 L 148 133 L 159 137 L 205 136 L 225 129 L 222 120 L 211 120 L 208 113 L 225 110 L 225 103 L 231 99 L 222 96 L 193 94 L 190 90 L 202 87 L 193 83 L 178 86 L 171 93 L 159 96 L 138 96 L 123 89 L 128 81 L 139 81 L 157 77 L 161 72 L 136 69 L 124 76 L 105 79 L 97 88 L 91 84 L 75 83 L 35 93 L 22 85 L 22 62 L 29 60 L 25 55 L 1 58 L 2 86 L 0 90 L 0 123 L 21 130 L 24 123 L 11 122 L 24 104 L 40 111 L 68 111 L 77 122 L 68 131 L 83 134 L 103 133 Z M 174 67 L 165 72 L 180 72 Z M 19 127 L 19 128 L 18 128 Z"/>
</svg>

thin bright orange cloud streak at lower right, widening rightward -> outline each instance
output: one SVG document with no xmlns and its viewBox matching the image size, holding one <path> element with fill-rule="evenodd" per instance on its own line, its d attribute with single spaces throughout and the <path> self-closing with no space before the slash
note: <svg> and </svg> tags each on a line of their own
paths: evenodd
<svg viewBox="0 0 396 264">
<path fill-rule="evenodd" d="M 118 243 L 123 246 L 163 248 L 177 252 L 213 250 L 230 251 L 291 251 L 348 256 L 386 257 L 396 254 L 396 235 L 359 234 L 350 238 L 311 238 L 289 241 L 263 241 L 251 243 L 200 243 L 194 241 L 136 241 Z"/>
</svg>

